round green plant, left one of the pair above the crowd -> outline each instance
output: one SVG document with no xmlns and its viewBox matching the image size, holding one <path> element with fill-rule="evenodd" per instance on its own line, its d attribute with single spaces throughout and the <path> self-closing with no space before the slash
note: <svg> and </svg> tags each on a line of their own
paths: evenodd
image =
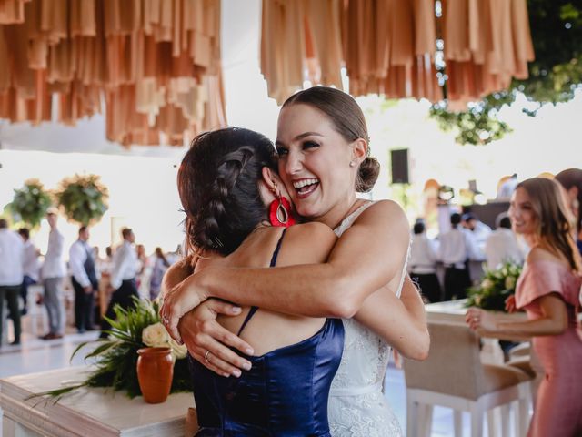
<svg viewBox="0 0 582 437">
<path fill-rule="evenodd" d="M 36 228 L 51 204 L 50 194 L 45 191 L 43 184 L 37 179 L 29 179 L 23 188 L 15 189 L 15 197 L 8 204 L 8 210 L 15 222 Z"/>
</svg>

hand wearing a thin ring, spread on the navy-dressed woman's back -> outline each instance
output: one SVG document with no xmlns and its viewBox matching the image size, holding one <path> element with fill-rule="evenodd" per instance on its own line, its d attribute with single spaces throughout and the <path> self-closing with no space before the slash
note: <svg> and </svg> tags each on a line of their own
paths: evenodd
<svg viewBox="0 0 582 437">
<path fill-rule="evenodd" d="M 218 322 L 218 314 L 235 316 L 241 309 L 235 305 L 209 299 L 184 315 L 178 324 L 178 330 L 190 352 L 192 358 L 206 368 L 222 376 L 236 376 L 241 374 L 240 369 L 249 370 L 251 363 L 236 355 L 227 346 L 247 355 L 253 354 L 253 349 L 244 340 L 226 330 Z"/>
</svg>

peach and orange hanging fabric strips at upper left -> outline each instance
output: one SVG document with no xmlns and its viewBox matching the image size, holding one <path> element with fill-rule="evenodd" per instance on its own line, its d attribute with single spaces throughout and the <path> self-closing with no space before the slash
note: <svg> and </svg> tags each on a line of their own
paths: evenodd
<svg viewBox="0 0 582 437">
<path fill-rule="evenodd" d="M 0 0 L 0 66 L 11 122 L 105 108 L 107 139 L 125 146 L 226 126 L 220 0 Z"/>
</svg>

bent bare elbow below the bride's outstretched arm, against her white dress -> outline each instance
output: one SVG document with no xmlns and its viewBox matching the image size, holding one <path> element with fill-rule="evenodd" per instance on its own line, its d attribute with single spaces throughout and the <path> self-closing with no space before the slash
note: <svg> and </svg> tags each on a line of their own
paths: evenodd
<svg viewBox="0 0 582 437">
<path fill-rule="evenodd" d="M 430 337 L 425 305 L 407 275 L 400 299 L 387 287 L 377 290 L 364 300 L 355 319 L 406 358 L 426 360 Z"/>
</svg>

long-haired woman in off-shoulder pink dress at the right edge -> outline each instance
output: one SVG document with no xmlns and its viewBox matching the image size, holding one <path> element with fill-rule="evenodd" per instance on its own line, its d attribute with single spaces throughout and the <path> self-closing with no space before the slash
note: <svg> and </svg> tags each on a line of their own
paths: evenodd
<svg viewBox="0 0 582 437">
<path fill-rule="evenodd" d="M 582 331 L 578 322 L 582 280 L 574 227 L 557 182 L 531 178 L 517 185 L 509 216 L 531 247 L 507 310 L 524 309 L 527 321 L 499 322 L 494 314 L 471 308 L 473 330 L 532 336 L 546 372 L 537 391 L 529 437 L 582 435 Z"/>
</svg>

